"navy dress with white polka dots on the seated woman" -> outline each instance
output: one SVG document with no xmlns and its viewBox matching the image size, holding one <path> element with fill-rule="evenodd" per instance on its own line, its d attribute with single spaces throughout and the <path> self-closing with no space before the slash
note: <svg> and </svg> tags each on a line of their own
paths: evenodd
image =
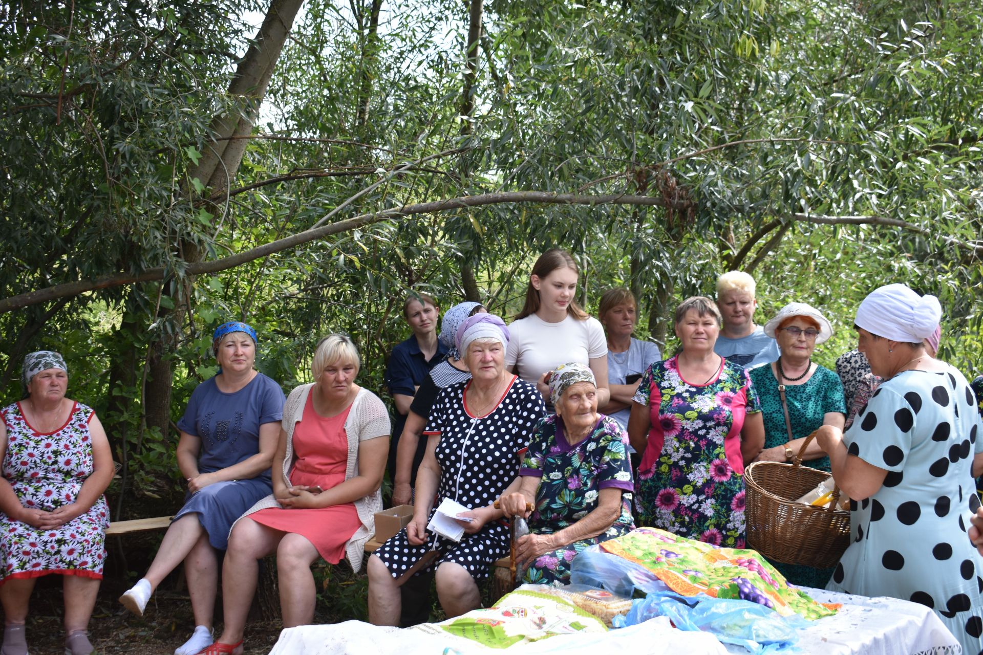
<svg viewBox="0 0 983 655">
<path fill-rule="evenodd" d="M 440 464 L 440 483 L 434 508 L 452 498 L 469 508 L 488 507 L 519 473 L 519 457 L 546 413 L 536 386 L 513 378 L 498 405 L 483 416 L 468 410 L 471 381 L 445 387 L 437 394 L 426 435 L 440 435 L 434 453 Z M 430 513 L 434 517 L 434 510 Z M 460 565 L 475 580 L 488 577 L 492 563 L 508 555 L 508 527 L 504 521 L 485 525 L 476 534 L 465 533 L 460 543 L 434 536 L 422 546 L 411 546 L 406 528 L 382 544 L 376 556 L 393 577 L 410 569 L 428 551 L 440 556 L 423 571 L 442 562 Z M 421 573 L 421 572 L 418 572 Z"/>
</svg>

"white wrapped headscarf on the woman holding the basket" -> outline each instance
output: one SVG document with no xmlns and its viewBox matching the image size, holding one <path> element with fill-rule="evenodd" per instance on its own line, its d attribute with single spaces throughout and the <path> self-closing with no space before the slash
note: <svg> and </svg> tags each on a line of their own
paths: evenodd
<svg viewBox="0 0 983 655">
<path fill-rule="evenodd" d="M 942 318 L 935 296 L 919 296 L 902 284 L 872 291 L 857 307 L 854 321 L 871 334 L 911 344 L 931 337 Z"/>
</svg>

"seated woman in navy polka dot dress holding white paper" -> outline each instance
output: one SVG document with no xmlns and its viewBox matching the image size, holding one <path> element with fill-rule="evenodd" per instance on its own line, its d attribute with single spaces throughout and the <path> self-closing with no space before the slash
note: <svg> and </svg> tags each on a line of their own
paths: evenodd
<svg viewBox="0 0 983 655">
<path fill-rule="evenodd" d="M 437 394 L 424 431 L 427 456 L 417 473 L 413 520 L 369 558 L 369 620 L 376 625 L 396 625 L 400 585 L 434 568 L 448 617 L 479 607 L 478 582 L 508 553 L 508 529 L 492 501 L 518 488 L 520 454 L 546 406 L 535 385 L 505 370 L 508 328 L 498 316 L 470 316 L 455 340 L 472 378 Z M 445 500 L 468 508 L 451 519 L 463 529 L 457 540 L 428 534 L 434 507 Z"/>
</svg>

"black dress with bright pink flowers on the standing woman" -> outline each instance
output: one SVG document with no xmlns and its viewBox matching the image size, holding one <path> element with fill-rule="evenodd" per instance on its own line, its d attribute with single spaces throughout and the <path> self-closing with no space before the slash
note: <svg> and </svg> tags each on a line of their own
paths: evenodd
<svg viewBox="0 0 983 655">
<path fill-rule="evenodd" d="M 761 411 L 747 371 L 723 358 L 715 377 L 693 384 L 672 357 L 649 366 L 632 400 L 652 419 L 635 479 L 639 524 L 743 548 L 740 431 Z"/>
</svg>

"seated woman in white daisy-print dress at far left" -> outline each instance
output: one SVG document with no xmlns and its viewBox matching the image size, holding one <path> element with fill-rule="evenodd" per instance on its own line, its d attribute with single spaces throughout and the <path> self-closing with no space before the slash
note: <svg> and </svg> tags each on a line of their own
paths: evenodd
<svg viewBox="0 0 983 655">
<path fill-rule="evenodd" d="M 27 395 L 0 421 L 0 602 L 4 655 L 26 655 L 25 622 L 34 582 L 64 576 L 65 652 L 87 655 L 88 619 L 102 579 L 113 476 L 109 442 L 95 412 L 65 398 L 61 355 L 24 360 Z"/>
</svg>

